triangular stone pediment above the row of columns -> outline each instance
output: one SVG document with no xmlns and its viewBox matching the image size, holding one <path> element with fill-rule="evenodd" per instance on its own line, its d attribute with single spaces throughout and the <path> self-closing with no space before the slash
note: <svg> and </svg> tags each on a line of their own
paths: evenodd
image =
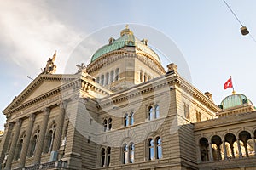
<svg viewBox="0 0 256 170">
<path fill-rule="evenodd" d="M 40 74 L 35 78 L 3 111 L 7 114 L 20 105 L 24 105 L 33 99 L 42 96 L 56 88 L 61 88 L 63 82 L 72 81 L 74 75 L 63 77 L 63 75 Z"/>
</svg>

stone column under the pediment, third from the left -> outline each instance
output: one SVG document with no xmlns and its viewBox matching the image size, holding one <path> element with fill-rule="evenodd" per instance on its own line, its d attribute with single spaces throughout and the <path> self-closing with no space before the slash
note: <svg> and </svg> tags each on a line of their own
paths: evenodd
<svg viewBox="0 0 256 170">
<path fill-rule="evenodd" d="M 28 117 L 29 122 L 28 122 L 28 126 L 26 127 L 26 137 L 24 139 L 24 143 L 23 143 L 22 150 L 20 153 L 20 167 L 25 166 L 26 153 L 27 153 L 28 145 L 30 142 L 31 134 L 32 134 L 32 128 L 33 128 L 34 120 L 35 120 L 34 114 L 31 114 L 27 117 Z"/>
</svg>

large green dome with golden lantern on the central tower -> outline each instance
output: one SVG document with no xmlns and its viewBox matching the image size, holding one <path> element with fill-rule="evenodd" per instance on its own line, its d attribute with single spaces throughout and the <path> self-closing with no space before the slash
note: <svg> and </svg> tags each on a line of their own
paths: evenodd
<svg viewBox="0 0 256 170">
<path fill-rule="evenodd" d="M 93 54 L 93 56 L 91 57 L 90 62 L 93 62 L 96 59 L 100 58 L 103 54 L 108 54 L 124 47 L 137 47 L 144 53 L 151 55 L 152 57 L 154 57 L 154 59 L 160 62 L 159 56 L 154 53 L 151 48 L 148 48 L 147 40 L 140 41 L 139 39 L 137 39 L 137 37 L 133 35 L 133 32 L 128 27 L 121 31 L 120 34 L 121 37 L 119 37 L 117 40 L 110 38 L 109 44 L 103 46 L 102 48 L 99 48 L 96 53 Z"/>
</svg>

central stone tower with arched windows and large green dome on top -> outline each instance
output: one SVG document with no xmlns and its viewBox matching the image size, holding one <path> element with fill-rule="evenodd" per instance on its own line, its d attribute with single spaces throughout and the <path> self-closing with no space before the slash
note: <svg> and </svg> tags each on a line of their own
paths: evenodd
<svg viewBox="0 0 256 170">
<path fill-rule="evenodd" d="M 92 55 L 87 72 L 96 82 L 113 91 L 130 88 L 165 74 L 160 58 L 148 47 L 148 40 L 139 40 L 126 25 L 120 37 L 110 37 L 108 44 Z"/>
</svg>

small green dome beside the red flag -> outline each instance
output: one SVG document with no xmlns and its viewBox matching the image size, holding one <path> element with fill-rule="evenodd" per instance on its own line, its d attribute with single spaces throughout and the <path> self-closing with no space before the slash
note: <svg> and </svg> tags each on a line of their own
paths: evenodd
<svg viewBox="0 0 256 170">
<path fill-rule="evenodd" d="M 221 105 L 218 105 L 221 109 L 229 109 L 239 105 L 253 105 L 252 102 L 247 99 L 244 94 L 232 94 L 222 100 Z"/>
</svg>

